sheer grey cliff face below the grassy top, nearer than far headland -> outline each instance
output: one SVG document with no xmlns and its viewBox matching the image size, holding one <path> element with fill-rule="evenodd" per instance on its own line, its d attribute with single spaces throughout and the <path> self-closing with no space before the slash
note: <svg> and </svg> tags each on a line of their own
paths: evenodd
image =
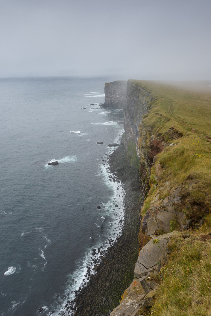
<svg viewBox="0 0 211 316">
<path fill-rule="evenodd" d="M 153 160 L 150 161 L 148 153 L 150 152 L 150 141 L 154 139 L 151 127 L 145 126 L 142 123 L 142 119 L 148 115 L 151 104 L 155 100 L 156 95 L 149 88 L 144 87 L 135 80 L 128 80 L 123 142 L 128 155 L 133 160 L 138 158 L 140 162 L 142 200 L 144 193 L 149 189 L 149 167 Z M 157 153 L 155 151 L 153 154 L 156 155 Z M 152 156 L 154 157 L 154 155 Z"/>
</svg>

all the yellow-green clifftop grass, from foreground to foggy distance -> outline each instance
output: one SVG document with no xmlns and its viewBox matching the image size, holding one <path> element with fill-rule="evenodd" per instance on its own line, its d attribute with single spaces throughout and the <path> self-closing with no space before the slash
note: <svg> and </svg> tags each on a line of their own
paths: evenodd
<svg viewBox="0 0 211 316">
<path fill-rule="evenodd" d="M 201 228 L 184 232 L 183 238 L 172 238 L 172 253 L 160 271 L 162 282 L 148 315 L 211 315 L 211 87 L 205 83 L 204 88 L 194 90 L 193 86 L 135 82 L 153 99 L 142 117 L 140 147 L 143 135 L 148 135 L 144 143 L 148 152 L 156 137 L 166 144 L 148 174 L 150 190 L 142 215 L 158 191 L 163 200 L 180 186 L 187 203 L 186 218 L 204 216 L 205 221 Z M 176 139 L 169 138 L 171 130 L 178 134 Z M 194 213 L 193 206 L 203 212 Z"/>
</svg>

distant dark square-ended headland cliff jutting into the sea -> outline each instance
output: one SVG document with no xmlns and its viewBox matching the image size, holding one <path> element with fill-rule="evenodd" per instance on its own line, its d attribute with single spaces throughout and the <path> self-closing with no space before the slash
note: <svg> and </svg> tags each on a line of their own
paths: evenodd
<svg viewBox="0 0 211 316">
<path fill-rule="evenodd" d="M 105 103 L 103 106 L 125 109 L 126 95 L 127 81 L 105 82 Z"/>
</svg>

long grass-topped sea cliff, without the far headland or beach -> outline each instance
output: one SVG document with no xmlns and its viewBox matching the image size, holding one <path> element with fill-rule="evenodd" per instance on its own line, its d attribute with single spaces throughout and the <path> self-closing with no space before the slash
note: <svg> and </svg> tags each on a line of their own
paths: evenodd
<svg viewBox="0 0 211 316">
<path fill-rule="evenodd" d="M 135 279 L 110 315 L 208 315 L 211 276 L 206 267 L 203 279 L 200 262 L 211 259 L 211 94 L 129 80 L 126 99 L 123 142 L 139 162 L 140 252 Z"/>
</svg>

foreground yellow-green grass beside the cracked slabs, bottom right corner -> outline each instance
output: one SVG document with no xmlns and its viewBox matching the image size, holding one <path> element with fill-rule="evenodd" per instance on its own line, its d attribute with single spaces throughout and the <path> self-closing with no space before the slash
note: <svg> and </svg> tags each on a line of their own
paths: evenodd
<svg viewBox="0 0 211 316">
<path fill-rule="evenodd" d="M 211 215 L 189 238 L 172 237 L 168 264 L 160 271 L 163 282 L 149 315 L 211 315 L 211 241 L 201 235 L 211 233 Z"/>
</svg>

